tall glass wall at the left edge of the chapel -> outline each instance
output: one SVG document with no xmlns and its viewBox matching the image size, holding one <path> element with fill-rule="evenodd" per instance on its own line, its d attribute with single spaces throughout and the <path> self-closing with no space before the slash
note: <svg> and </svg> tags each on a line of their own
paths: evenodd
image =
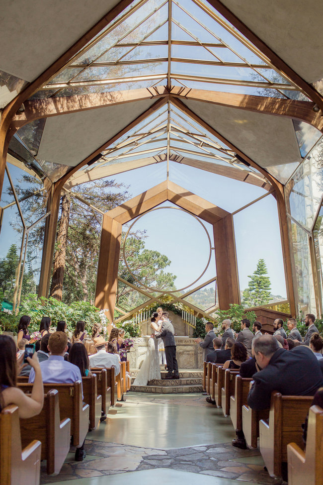
<svg viewBox="0 0 323 485">
<path fill-rule="evenodd" d="M 43 251 L 46 192 L 23 164 L 7 163 L 1 194 L 0 298 L 6 307 L 38 291 Z"/>
</svg>

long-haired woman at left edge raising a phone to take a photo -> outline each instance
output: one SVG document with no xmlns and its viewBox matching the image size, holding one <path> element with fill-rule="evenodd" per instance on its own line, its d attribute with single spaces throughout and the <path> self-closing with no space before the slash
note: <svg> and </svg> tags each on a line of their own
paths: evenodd
<svg viewBox="0 0 323 485">
<path fill-rule="evenodd" d="M 44 386 L 40 366 L 35 353 L 27 361 L 32 366 L 35 382 L 28 396 L 16 387 L 17 374 L 23 367 L 21 355 L 18 362 L 16 359 L 16 345 L 8 335 L 0 335 L 0 410 L 9 404 L 18 406 L 20 418 L 31 418 L 40 413 L 44 403 Z"/>
</svg>

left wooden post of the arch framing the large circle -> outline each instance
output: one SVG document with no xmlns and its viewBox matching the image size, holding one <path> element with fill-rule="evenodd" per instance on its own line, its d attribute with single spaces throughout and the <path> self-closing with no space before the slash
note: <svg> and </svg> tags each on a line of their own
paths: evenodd
<svg viewBox="0 0 323 485">
<path fill-rule="evenodd" d="M 122 224 L 104 214 L 97 268 L 95 306 L 109 310 L 107 318 L 110 322 L 114 320 L 121 233 Z"/>
</svg>

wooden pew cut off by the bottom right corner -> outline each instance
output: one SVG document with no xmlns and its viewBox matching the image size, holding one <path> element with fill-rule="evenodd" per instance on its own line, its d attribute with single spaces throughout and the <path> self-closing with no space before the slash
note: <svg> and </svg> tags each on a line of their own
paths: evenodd
<svg viewBox="0 0 323 485">
<path fill-rule="evenodd" d="M 296 444 L 287 445 L 288 483 L 323 485 L 323 409 L 309 410 L 305 452 Z"/>
</svg>

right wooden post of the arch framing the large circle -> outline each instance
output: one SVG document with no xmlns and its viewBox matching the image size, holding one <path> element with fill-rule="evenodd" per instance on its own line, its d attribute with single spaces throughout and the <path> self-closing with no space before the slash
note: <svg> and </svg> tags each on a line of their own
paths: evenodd
<svg viewBox="0 0 323 485">
<path fill-rule="evenodd" d="M 229 309 L 230 303 L 240 303 L 236 242 L 232 214 L 213 224 L 215 261 L 217 267 L 219 307 Z"/>
</svg>

